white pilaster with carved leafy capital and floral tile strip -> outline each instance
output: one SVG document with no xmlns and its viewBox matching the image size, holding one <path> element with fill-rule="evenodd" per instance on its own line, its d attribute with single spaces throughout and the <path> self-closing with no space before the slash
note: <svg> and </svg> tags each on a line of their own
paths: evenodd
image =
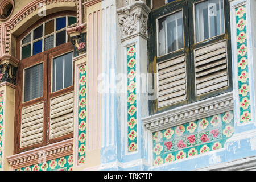
<svg viewBox="0 0 256 182">
<path fill-rule="evenodd" d="M 117 9 L 120 30 L 117 72 L 123 73 L 124 92 L 119 93 L 119 141 L 122 162 L 143 170 L 147 165 L 145 131 L 141 118 L 148 115 L 147 20 L 150 8 L 145 1 L 129 1 Z M 117 74 L 118 74 L 117 73 Z"/>
</svg>

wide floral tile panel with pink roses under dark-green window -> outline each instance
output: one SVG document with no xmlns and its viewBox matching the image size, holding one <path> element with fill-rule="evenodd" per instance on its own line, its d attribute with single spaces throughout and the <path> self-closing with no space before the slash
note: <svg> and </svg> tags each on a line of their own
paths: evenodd
<svg viewBox="0 0 256 182">
<path fill-rule="evenodd" d="M 233 111 L 152 134 L 154 166 L 218 150 L 234 133 Z"/>
</svg>

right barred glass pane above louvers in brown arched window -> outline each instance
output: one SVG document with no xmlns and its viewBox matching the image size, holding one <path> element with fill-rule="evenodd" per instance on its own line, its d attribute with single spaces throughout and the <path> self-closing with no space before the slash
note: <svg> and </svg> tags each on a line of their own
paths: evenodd
<svg viewBox="0 0 256 182">
<path fill-rule="evenodd" d="M 68 88 L 73 84 L 73 52 L 53 59 L 52 92 Z"/>
</svg>

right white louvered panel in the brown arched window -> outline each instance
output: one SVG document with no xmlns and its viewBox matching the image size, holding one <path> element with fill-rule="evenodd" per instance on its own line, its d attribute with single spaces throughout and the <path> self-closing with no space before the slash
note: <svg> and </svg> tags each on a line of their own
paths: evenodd
<svg viewBox="0 0 256 182">
<path fill-rule="evenodd" d="M 50 139 L 73 132 L 73 92 L 51 99 Z"/>
</svg>

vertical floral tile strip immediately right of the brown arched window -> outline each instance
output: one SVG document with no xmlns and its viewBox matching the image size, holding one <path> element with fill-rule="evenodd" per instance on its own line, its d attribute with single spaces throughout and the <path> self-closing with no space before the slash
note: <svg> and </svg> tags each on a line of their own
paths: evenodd
<svg viewBox="0 0 256 182">
<path fill-rule="evenodd" d="M 79 67 L 79 128 L 78 128 L 78 148 L 77 164 L 85 164 L 86 147 L 86 65 Z"/>
</svg>

